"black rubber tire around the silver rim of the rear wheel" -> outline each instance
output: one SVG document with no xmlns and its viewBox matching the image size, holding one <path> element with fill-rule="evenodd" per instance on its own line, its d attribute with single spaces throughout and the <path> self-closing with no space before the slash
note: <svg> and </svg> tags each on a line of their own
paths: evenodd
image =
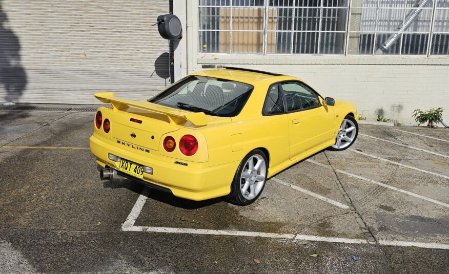
<svg viewBox="0 0 449 274">
<path fill-rule="evenodd" d="M 241 184 L 241 174 L 243 172 L 243 169 L 247 163 L 247 161 L 255 156 L 255 155 L 259 155 L 263 158 L 263 160 L 265 161 L 266 164 L 266 168 L 265 168 L 265 180 L 263 183 L 263 186 L 260 190 L 260 192 L 252 199 L 247 199 L 246 197 L 243 196 L 241 189 L 240 189 L 240 184 Z M 226 197 L 227 200 L 231 203 L 237 204 L 237 205 L 249 205 L 251 203 L 253 203 L 255 200 L 257 200 L 257 198 L 259 198 L 260 194 L 262 194 L 263 189 L 265 188 L 265 185 L 267 184 L 267 173 L 268 173 L 268 160 L 267 160 L 267 156 L 265 155 L 265 153 L 261 150 L 253 150 L 250 153 L 248 153 L 247 156 L 245 156 L 243 158 L 243 160 L 240 162 L 240 164 L 237 167 L 237 171 L 235 172 L 234 175 L 234 179 L 232 180 L 231 183 L 231 192 L 228 194 L 228 196 Z"/>
</svg>

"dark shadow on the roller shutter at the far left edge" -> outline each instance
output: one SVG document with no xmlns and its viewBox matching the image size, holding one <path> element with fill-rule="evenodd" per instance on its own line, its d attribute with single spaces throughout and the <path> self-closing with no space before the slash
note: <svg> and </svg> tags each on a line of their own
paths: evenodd
<svg viewBox="0 0 449 274">
<path fill-rule="evenodd" d="M 27 74 L 21 65 L 21 46 L 18 37 L 7 26 L 8 17 L 0 0 L 0 88 L 6 96 L 0 102 L 17 102 L 27 86 Z"/>
</svg>

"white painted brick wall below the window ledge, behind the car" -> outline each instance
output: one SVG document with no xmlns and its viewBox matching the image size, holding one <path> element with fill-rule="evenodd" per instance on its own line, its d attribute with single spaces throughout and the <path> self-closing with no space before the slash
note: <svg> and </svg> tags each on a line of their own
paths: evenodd
<svg viewBox="0 0 449 274">
<path fill-rule="evenodd" d="M 383 110 L 386 118 L 413 123 L 413 110 L 443 107 L 443 120 L 449 122 L 449 66 L 231 64 L 301 78 L 324 96 L 355 103 L 369 120 Z"/>
</svg>

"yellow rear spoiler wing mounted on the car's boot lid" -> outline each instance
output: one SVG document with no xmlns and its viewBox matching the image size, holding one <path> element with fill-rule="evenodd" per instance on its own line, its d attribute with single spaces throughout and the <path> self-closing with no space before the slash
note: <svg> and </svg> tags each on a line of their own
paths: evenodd
<svg viewBox="0 0 449 274">
<path fill-rule="evenodd" d="M 183 110 L 172 109 L 161 106 L 160 104 L 150 103 L 147 100 L 133 101 L 115 97 L 113 92 L 95 93 L 95 98 L 104 102 L 110 103 L 114 110 L 123 110 L 129 107 L 148 110 L 160 114 L 167 115 L 170 124 L 180 124 L 185 121 L 190 121 L 194 125 L 207 125 L 208 118 L 203 112 L 189 112 Z"/>
</svg>

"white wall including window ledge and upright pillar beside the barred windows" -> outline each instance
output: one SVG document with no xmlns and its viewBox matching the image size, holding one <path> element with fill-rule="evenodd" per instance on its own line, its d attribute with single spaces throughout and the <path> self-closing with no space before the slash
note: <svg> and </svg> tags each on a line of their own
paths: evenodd
<svg viewBox="0 0 449 274">
<path fill-rule="evenodd" d="M 189 68 L 193 70 L 226 64 L 278 72 L 303 79 L 324 96 L 354 102 L 359 113 L 370 120 L 382 109 L 387 118 L 412 123 L 413 110 L 443 107 L 443 120 L 449 123 L 448 56 L 198 54 L 196 3 L 191 14 L 192 52 L 186 51 L 187 37 L 181 40 L 184 73 L 187 58 L 193 60 L 193 68 Z M 187 17 L 185 1 L 174 0 L 174 13 Z"/>
</svg>

